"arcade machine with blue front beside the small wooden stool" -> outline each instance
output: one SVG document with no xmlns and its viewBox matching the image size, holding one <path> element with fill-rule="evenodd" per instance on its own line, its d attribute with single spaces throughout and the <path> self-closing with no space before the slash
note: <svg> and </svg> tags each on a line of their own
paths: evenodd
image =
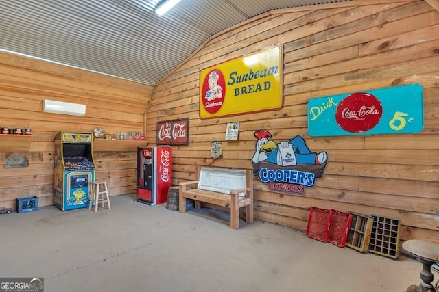
<svg viewBox="0 0 439 292">
<path fill-rule="evenodd" d="M 55 136 L 54 205 L 62 211 L 88 207 L 95 180 L 91 133 Z"/>
</svg>

